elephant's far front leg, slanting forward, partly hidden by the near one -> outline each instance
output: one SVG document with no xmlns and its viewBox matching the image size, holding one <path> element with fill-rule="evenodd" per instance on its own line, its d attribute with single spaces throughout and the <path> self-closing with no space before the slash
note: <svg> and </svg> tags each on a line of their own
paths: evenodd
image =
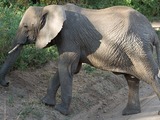
<svg viewBox="0 0 160 120">
<path fill-rule="evenodd" d="M 58 71 L 54 75 L 54 77 L 49 81 L 49 86 L 47 89 L 47 94 L 45 97 L 42 99 L 42 102 L 46 105 L 52 105 L 54 106 L 56 104 L 56 93 L 57 90 L 60 86 L 60 81 L 59 81 L 59 74 Z"/>
</svg>

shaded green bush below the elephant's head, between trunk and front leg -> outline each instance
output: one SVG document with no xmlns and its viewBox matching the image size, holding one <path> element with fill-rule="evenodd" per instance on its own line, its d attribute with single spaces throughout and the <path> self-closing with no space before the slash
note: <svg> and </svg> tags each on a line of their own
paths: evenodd
<svg viewBox="0 0 160 120">
<path fill-rule="evenodd" d="M 56 60 L 58 52 L 56 47 L 36 49 L 34 45 L 24 46 L 14 69 L 25 70 L 28 67 L 39 68 L 50 60 Z"/>
</svg>

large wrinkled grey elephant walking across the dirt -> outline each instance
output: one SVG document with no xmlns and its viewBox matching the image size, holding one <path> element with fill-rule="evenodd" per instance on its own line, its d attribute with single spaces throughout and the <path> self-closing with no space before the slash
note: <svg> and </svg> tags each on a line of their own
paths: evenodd
<svg viewBox="0 0 160 120">
<path fill-rule="evenodd" d="M 158 37 L 146 17 L 132 8 L 117 6 L 90 10 L 72 4 L 30 7 L 20 22 L 15 39 L 0 70 L 0 83 L 8 85 L 5 76 L 23 45 L 35 43 L 38 48 L 56 45 L 58 69 L 49 81 L 42 101 L 56 105 L 55 96 L 61 86 L 62 102 L 55 109 L 62 114 L 69 114 L 73 75 L 79 72 L 82 63 L 124 74 L 129 97 L 123 115 L 141 111 L 140 80 L 150 84 L 160 98 L 159 66 L 152 56 L 155 46 L 157 61 L 160 61 Z"/>
</svg>

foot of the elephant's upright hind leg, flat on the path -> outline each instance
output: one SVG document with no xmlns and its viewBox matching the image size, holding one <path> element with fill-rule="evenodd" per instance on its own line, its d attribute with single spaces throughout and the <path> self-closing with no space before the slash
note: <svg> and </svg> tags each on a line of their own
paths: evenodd
<svg viewBox="0 0 160 120">
<path fill-rule="evenodd" d="M 140 113 L 140 112 L 141 112 L 140 107 L 127 106 L 127 107 L 123 110 L 122 115 L 132 115 L 132 114 L 137 114 L 137 113 Z"/>
</svg>

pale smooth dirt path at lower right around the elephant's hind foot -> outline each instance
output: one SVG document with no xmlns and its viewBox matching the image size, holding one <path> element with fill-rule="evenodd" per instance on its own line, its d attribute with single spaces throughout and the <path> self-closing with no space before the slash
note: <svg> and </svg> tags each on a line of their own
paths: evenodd
<svg viewBox="0 0 160 120">
<path fill-rule="evenodd" d="M 152 91 L 151 87 L 145 83 L 141 83 L 140 88 L 140 101 L 141 101 L 141 113 L 135 115 L 122 116 L 121 112 L 125 108 L 127 103 L 126 91 L 127 88 L 122 88 L 115 96 L 123 93 L 123 97 L 119 96 L 113 104 L 118 103 L 116 106 L 112 106 L 110 110 L 104 111 L 105 107 L 99 103 L 92 107 L 89 111 L 85 111 L 71 120 L 160 120 L 158 111 L 160 110 L 160 101 Z"/>
</svg>

